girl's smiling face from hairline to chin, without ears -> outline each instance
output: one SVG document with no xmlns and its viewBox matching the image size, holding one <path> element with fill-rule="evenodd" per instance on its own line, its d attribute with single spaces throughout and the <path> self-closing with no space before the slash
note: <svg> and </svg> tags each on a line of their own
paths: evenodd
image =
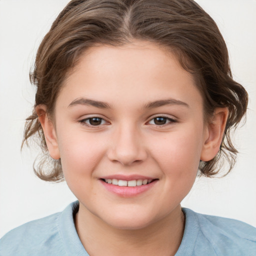
<svg viewBox="0 0 256 256">
<path fill-rule="evenodd" d="M 59 153 L 79 211 L 118 228 L 144 227 L 179 207 L 208 136 L 192 75 L 146 41 L 88 49 L 54 118 L 49 151 Z"/>
</svg>

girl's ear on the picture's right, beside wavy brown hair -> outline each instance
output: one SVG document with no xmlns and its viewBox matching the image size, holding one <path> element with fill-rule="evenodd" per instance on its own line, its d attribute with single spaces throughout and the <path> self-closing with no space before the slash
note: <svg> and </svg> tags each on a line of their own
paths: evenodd
<svg viewBox="0 0 256 256">
<path fill-rule="evenodd" d="M 218 152 L 228 116 L 227 107 L 217 107 L 211 121 L 205 127 L 204 143 L 200 160 L 209 161 Z"/>
</svg>

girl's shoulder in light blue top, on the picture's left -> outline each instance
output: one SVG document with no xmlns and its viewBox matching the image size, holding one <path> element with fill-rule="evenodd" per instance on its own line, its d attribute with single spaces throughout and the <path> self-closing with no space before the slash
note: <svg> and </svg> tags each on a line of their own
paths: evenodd
<svg viewBox="0 0 256 256">
<path fill-rule="evenodd" d="M 71 203 L 62 212 L 32 220 L 7 232 L 0 239 L 0 256 L 67 255 L 66 237 L 61 228 L 63 222 L 74 226 L 72 212 L 75 205 L 76 202 Z"/>
</svg>

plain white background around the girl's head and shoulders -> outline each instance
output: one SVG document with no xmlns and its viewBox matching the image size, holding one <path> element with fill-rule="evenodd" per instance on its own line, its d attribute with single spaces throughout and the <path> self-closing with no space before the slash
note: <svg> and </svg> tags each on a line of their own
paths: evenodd
<svg viewBox="0 0 256 256">
<path fill-rule="evenodd" d="M 0 0 L 0 237 L 24 222 L 62 210 L 75 200 L 65 182 L 33 174 L 38 149 L 20 152 L 34 88 L 28 73 L 36 49 L 68 0 Z M 182 206 L 256 226 L 256 1 L 197 0 L 217 22 L 234 78 L 247 89 L 247 122 L 235 133 L 240 154 L 224 178 L 196 179 Z"/>
</svg>

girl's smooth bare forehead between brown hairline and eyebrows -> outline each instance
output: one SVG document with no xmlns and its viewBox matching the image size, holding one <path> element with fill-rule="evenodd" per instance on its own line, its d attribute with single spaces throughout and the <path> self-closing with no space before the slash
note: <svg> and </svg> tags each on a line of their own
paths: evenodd
<svg viewBox="0 0 256 256">
<path fill-rule="evenodd" d="M 174 54 L 148 41 L 87 49 L 62 91 L 70 102 L 78 97 L 127 105 L 129 100 L 134 104 L 136 98 L 145 104 L 159 97 L 201 102 L 193 76 L 181 67 Z"/>
</svg>

